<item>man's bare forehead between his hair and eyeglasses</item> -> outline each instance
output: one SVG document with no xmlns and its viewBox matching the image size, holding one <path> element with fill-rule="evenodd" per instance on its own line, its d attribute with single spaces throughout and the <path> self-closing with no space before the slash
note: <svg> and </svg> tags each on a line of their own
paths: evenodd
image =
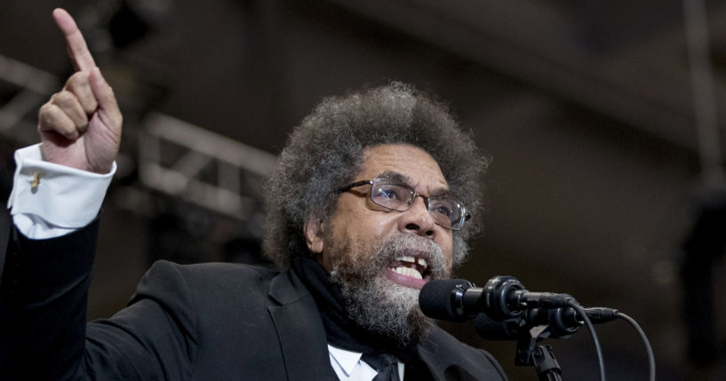
<svg viewBox="0 0 726 381">
<path fill-rule="evenodd" d="M 417 191 L 449 187 L 434 158 L 423 149 L 407 144 L 385 144 L 363 150 L 359 179 L 373 179 L 384 171 L 408 177 Z"/>
</svg>

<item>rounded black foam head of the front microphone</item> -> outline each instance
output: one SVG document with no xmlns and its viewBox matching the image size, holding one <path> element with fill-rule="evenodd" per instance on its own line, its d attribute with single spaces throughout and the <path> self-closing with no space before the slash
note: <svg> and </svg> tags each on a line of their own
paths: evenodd
<svg viewBox="0 0 726 381">
<path fill-rule="evenodd" d="M 474 286 L 463 279 L 446 279 L 442 281 L 429 281 L 419 293 L 419 306 L 421 311 L 430 318 L 443 321 L 467 321 L 474 316 L 463 314 L 457 308 L 457 292 L 463 294 L 464 290 Z M 458 311 L 459 310 L 459 311 Z"/>
</svg>

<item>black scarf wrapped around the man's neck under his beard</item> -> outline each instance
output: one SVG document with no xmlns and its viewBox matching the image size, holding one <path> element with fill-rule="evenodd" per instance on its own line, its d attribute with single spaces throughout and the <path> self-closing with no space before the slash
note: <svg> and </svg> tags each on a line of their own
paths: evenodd
<svg viewBox="0 0 726 381">
<path fill-rule="evenodd" d="M 315 304 L 323 319 L 325 335 L 333 346 L 360 353 L 392 353 L 403 362 L 411 360 L 416 343 L 402 346 L 378 332 L 358 327 L 347 317 L 346 302 L 338 284 L 331 282 L 331 275 L 317 260 L 292 256 L 291 269 L 305 283 L 315 298 Z"/>
</svg>

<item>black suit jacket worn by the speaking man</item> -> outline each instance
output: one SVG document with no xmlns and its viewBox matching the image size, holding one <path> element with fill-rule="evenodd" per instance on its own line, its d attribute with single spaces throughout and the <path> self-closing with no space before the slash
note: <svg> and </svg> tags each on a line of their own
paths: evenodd
<svg viewBox="0 0 726 381">
<path fill-rule="evenodd" d="M 326 380 L 315 300 L 291 271 L 157 262 L 129 306 L 85 322 L 97 223 L 11 240 L 0 287 L 0 379 Z M 407 379 L 506 379 L 489 353 L 435 329 Z"/>
</svg>

